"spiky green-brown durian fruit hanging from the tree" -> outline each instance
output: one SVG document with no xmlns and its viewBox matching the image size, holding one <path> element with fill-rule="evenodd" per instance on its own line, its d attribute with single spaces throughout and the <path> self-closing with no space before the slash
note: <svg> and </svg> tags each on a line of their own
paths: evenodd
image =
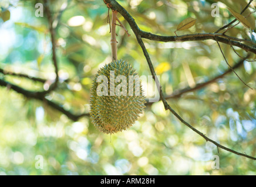
<svg viewBox="0 0 256 187">
<path fill-rule="evenodd" d="M 112 71 L 112 73 L 110 71 Z M 114 88 L 116 90 L 120 82 L 122 82 L 118 82 L 116 80 L 113 82 L 110 80 L 111 77 L 113 77 L 113 71 L 115 79 L 118 75 L 124 75 L 126 77 L 126 95 L 119 94 L 119 96 L 117 96 L 118 94 L 116 94 L 116 92 L 114 92 L 114 95 L 110 94 L 110 88 Z M 97 94 L 97 87 L 100 84 L 103 84 L 102 81 L 97 82 L 97 77 L 99 75 L 105 75 L 107 77 L 107 84 L 105 84 L 105 88 L 107 86 L 107 91 L 105 91 L 105 94 L 102 96 Z M 137 87 L 139 89 L 136 89 L 136 81 L 130 80 L 129 82 L 129 75 L 137 75 L 132 65 L 127 63 L 127 61 L 117 60 L 106 64 L 103 68 L 100 68 L 95 79 L 93 79 L 90 97 L 90 119 L 96 129 L 103 133 L 112 134 L 129 129 L 129 127 L 136 122 L 139 115 L 143 113 L 143 109 L 146 107 L 144 105 L 146 101 L 143 96 L 141 82 L 139 81 L 139 87 Z M 133 86 L 133 89 L 131 89 L 133 90 L 133 94 L 130 94 L 132 96 L 129 96 L 129 85 Z M 124 88 L 124 90 L 122 88 Z M 126 88 L 122 88 L 119 88 L 119 90 L 124 93 Z"/>
</svg>

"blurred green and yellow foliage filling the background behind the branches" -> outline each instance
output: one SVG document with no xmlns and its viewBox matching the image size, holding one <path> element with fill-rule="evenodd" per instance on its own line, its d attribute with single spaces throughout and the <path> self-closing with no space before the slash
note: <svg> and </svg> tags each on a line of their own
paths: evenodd
<svg viewBox="0 0 256 187">
<path fill-rule="evenodd" d="M 1 1 L 0 68 L 34 77 L 54 79 L 51 43 L 46 16 L 35 16 L 41 1 Z M 234 17 L 228 8 L 240 12 L 246 1 L 218 1 L 220 16 L 212 17 L 216 1 L 127 0 L 119 3 L 136 20 L 140 29 L 166 36 L 174 35 L 186 18 L 194 26 L 177 34 L 215 32 Z M 238 6 L 240 5 L 240 6 Z M 252 5 L 256 5 L 252 2 Z M 235 6 L 235 7 L 233 7 Z M 110 63 L 110 33 L 103 1 L 50 1 L 60 84 L 48 99 L 62 103 L 75 113 L 89 112 L 90 85 L 105 63 Z M 251 11 L 254 11 L 250 8 Z M 8 15 L 9 12 L 9 15 Z M 10 17 L 10 18 L 9 18 Z M 254 19 L 255 14 L 250 17 Z M 142 50 L 132 34 L 117 27 L 118 54 L 133 64 L 139 75 L 150 75 Z M 228 35 L 250 39 L 241 24 Z M 143 40 L 166 95 L 203 82 L 228 69 L 214 41 L 161 43 Z M 239 57 L 221 44 L 231 65 Z M 236 49 L 241 56 L 245 51 Z M 256 64 L 244 62 L 237 73 L 256 88 Z M 43 84 L 26 78 L 2 75 L 23 88 L 42 90 Z M 191 79 L 192 78 L 192 79 Z M 68 82 L 63 80 L 69 79 Z M 170 105 L 190 124 L 217 142 L 241 153 L 256 155 L 256 91 L 234 75 L 181 98 Z M 27 99 L 8 88 L 0 88 L 0 174 L 3 175 L 256 175 L 256 162 L 220 151 L 220 169 L 213 169 L 217 147 L 181 124 L 161 102 L 147 107 L 127 131 L 99 133 L 89 117 L 72 122 L 41 101 Z M 43 156 L 43 169 L 36 169 L 36 155 Z"/>
</svg>

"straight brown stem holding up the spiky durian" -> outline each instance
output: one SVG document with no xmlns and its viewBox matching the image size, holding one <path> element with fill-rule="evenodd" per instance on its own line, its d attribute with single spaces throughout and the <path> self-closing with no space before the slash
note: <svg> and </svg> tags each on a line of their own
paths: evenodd
<svg viewBox="0 0 256 187">
<path fill-rule="evenodd" d="M 111 51 L 112 51 L 112 61 L 117 60 L 117 41 L 116 41 L 116 19 L 117 19 L 117 11 L 112 11 L 112 24 L 111 24 Z"/>
</svg>

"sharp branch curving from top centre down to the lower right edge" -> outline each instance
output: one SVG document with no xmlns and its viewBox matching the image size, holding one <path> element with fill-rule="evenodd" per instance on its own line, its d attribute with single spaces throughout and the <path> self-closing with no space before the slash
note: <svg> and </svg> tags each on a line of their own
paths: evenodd
<svg viewBox="0 0 256 187">
<path fill-rule="evenodd" d="M 211 140 L 210 138 L 208 138 L 206 135 L 204 135 L 203 133 L 201 133 L 200 131 L 198 131 L 196 128 L 194 128 L 193 126 L 191 126 L 189 123 L 187 123 L 185 120 L 183 120 L 182 117 L 180 117 L 171 107 L 170 105 L 167 103 L 166 99 L 163 96 L 163 92 L 161 91 L 161 85 L 159 84 L 159 80 L 156 77 L 156 72 L 154 71 L 154 67 L 153 64 L 151 63 L 150 60 L 150 56 L 147 53 L 147 49 L 144 46 L 144 43 L 142 41 L 142 30 L 139 29 L 139 27 L 137 26 L 136 22 L 134 21 L 134 19 L 132 18 L 132 16 L 121 6 L 119 5 L 116 1 L 114 0 L 104 0 L 105 4 L 109 4 L 110 8 L 112 8 L 112 10 L 114 9 L 115 11 L 118 11 L 119 13 L 121 13 L 124 17 L 124 19 L 127 20 L 127 22 L 129 23 L 130 27 L 132 28 L 136 39 L 138 41 L 138 43 L 140 44 L 140 47 L 143 50 L 144 56 L 147 60 L 147 64 L 149 65 L 151 74 L 154 78 L 154 80 L 156 81 L 156 84 L 159 88 L 159 94 L 160 94 L 160 98 L 162 100 L 162 102 L 164 103 L 164 108 L 166 110 L 170 110 L 171 113 L 173 113 L 174 116 L 176 116 L 178 118 L 178 120 L 180 120 L 181 123 L 185 124 L 187 127 L 189 127 L 191 130 L 195 131 L 197 134 L 199 134 L 201 137 L 203 137 L 206 141 L 210 141 L 211 143 L 215 144 L 215 146 L 217 146 L 217 148 L 222 148 L 223 150 L 229 151 L 231 153 L 237 154 L 237 155 L 241 155 L 243 157 L 247 157 L 250 158 L 252 160 L 256 160 L 256 158 L 248 156 L 246 154 L 242 154 L 242 153 L 238 153 L 237 151 L 231 150 L 230 148 L 227 148 L 225 146 L 222 146 L 221 144 L 218 144 L 217 142 L 215 142 L 214 140 Z M 150 33 L 149 33 L 150 34 Z M 158 85 L 159 84 L 159 85 Z"/>
</svg>

